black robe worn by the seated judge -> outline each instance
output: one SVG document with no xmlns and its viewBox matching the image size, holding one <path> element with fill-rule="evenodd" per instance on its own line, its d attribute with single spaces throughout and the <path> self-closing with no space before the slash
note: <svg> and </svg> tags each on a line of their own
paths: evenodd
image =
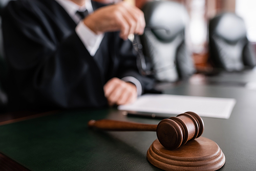
<svg viewBox="0 0 256 171">
<path fill-rule="evenodd" d="M 129 40 L 105 33 L 92 57 L 75 22 L 54 0 L 12 1 L 2 17 L 12 108 L 100 108 L 107 105 L 103 85 L 113 77 L 133 76 L 143 91 L 153 88 L 139 75 Z"/>
</svg>

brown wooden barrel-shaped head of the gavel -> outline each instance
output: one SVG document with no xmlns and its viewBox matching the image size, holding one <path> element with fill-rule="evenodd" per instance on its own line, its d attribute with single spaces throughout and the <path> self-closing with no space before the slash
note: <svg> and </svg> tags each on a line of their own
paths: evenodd
<svg viewBox="0 0 256 171">
<path fill-rule="evenodd" d="M 168 149 L 176 149 L 188 140 L 200 137 L 204 131 L 202 118 L 194 112 L 163 119 L 157 125 L 157 138 Z"/>
</svg>

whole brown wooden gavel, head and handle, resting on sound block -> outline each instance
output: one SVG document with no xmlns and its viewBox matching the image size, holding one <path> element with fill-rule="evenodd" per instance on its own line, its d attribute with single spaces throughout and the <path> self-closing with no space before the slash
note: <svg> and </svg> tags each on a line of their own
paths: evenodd
<svg viewBox="0 0 256 171">
<path fill-rule="evenodd" d="M 159 142 L 168 149 L 176 149 L 204 131 L 202 118 L 194 112 L 163 119 L 158 125 L 102 119 L 90 120 L 88 126 L 108 131 L 156 131 Z"/>
</svg>

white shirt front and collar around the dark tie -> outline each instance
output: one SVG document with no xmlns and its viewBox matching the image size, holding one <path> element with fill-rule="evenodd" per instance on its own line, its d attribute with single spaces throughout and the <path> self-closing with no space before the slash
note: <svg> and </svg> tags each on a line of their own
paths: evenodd
<svg viewBox="0 0 256 171">
<path fill-rule="evenodd" d="M 67 13 L 70 15 L 70 17 L 76 22 L 79 23 L 79 17 L 76 15 L 76 11 L 84 11 L 88 10 L 89 13 L 93 12 L 93 6 L 91 0 L 85 0 L 86 3 L 84 6 L 79 6 L 72 1 L 69 0 L 55 0 L 57 3 L 59 3 L 60 6 L 62 6 Z"/>
</svg>

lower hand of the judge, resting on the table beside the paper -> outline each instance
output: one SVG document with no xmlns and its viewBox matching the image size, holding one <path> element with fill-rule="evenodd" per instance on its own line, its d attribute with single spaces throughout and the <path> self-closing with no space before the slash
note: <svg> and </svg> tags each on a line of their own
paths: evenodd
<svg viewBox="0 0 256 171">
<path fill-rule="evenodd" d="M 103 89 L 110 106 L 132 103 L 137 99 L 136 86 L 119 78 L 110 79 Z"/>
</svg>

